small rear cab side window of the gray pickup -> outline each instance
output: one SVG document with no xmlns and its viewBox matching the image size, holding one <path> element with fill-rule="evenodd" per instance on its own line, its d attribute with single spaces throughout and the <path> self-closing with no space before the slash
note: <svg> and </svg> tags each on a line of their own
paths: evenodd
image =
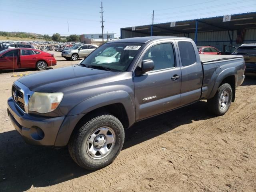
<svg viewBox="0 0 256 192">
<path fill-rule="evenodd" d="M 178 42 L 178 47 L 182 66 L 185 67 L 196 63 L 196 54 L 191 42 L 180 41 Z"/>
</svg>

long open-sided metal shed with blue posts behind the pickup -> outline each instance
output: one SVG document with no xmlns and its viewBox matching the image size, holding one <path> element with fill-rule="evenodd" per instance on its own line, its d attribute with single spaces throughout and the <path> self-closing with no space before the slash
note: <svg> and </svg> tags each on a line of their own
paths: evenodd
<svg viewBox="0 0 256 192">
<path fill-rule="evenodd" d="M 149 24 L 121 28 L 121 38 L 141 36 L 178 36 L 192 38 L 197 46 L 240 46 L 256 43 L 256 12 Z"/>
</svg>

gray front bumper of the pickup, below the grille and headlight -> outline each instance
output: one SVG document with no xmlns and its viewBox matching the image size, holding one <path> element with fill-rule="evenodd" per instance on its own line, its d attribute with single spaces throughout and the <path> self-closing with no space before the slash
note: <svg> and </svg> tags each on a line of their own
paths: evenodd
<svg viewBox="0 0 256 192">
<path fill-rule="evenodd" d="M 54 146 L 65 118 L 65 116 L 50 118 L 24 114 L 18 109 L 12 97 L 8 99 L 7 112 L 14 128 L 22 135 L 26 143 L 43 146 Z"/>
</svg>

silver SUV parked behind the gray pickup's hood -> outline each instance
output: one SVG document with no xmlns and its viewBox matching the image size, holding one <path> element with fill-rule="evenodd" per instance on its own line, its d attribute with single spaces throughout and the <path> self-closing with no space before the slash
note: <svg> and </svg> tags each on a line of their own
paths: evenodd
<svg viewBox="0 0 256 192">
<path fill-rule="evenodd" d="M 71 59 L 73 61 L 76 61 L 81 57 L 88 56 L 96 48 L 98 48 L 98 46 L 92 44 L 75 45 L 68 50 L 62 51 L 61 56 L 64 57 L 66 60 Z"/>
</svg>

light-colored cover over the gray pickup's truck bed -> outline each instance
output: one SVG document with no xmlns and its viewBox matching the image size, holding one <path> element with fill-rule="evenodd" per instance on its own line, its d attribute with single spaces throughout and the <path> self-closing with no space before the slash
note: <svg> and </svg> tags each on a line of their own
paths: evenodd
<svg viewBox="0 0 256 192">
<path fill-rule="evenodd" d="M 202 64 L 208 64 L 210 62 L 243 58 L 241 55 L 206 55 L 199 54 Z"/>
</svg>

